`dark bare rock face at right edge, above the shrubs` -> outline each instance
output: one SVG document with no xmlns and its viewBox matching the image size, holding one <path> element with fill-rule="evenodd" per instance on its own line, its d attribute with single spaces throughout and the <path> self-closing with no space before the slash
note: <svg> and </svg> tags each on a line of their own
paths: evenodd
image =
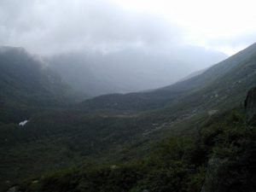
<svg viewBox="0 0 256 192">
<path fill-rule="evenodd" d="M 245 109 L 247 113 L 247 122 L 249 124 L 256 124 L 256 87 L 248 91 L 245 101 Z"/>
</svg>

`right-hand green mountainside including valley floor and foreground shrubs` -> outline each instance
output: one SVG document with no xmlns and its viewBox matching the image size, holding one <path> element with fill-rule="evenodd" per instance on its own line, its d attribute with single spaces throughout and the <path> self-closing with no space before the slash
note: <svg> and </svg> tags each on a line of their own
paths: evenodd
<svg viewBox="0 0 256 192">
<path fill-rule="evenodd" d="M 1 189 L 253 192 L 255 70 L 253 44 L 176 84 L 0 124 Z"/>
</svg>

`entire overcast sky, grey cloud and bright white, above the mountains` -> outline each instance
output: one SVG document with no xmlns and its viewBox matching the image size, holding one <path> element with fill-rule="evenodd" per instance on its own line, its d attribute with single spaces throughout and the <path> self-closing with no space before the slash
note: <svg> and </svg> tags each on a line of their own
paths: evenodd
<svg viewBox="0 0 256 192">
<path fill-rule="evenodd" d="M 1 0 L 0 45 L 166 51 L 186 44 L 232 55 L 256 42 L 255 0 Z"/>
</svg>

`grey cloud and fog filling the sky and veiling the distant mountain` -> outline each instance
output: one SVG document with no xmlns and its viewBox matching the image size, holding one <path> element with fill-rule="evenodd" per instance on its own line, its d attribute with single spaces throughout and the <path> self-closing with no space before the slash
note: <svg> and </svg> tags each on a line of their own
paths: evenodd
<svg viewBox="0 0 256 192">
<path fill-rule="evenodd" d="M 96 96 L 172 84 L 224 60 L 223 49 L 236 52 L 255 40 L 251 31 L 236 34 L 237 41 L 234 36 L 213 35 L 202 44 L 206 37 L 198 38 L 196 27 L 177 22 L 163 9 L 151 11 L 158 8 L 155 1 L 137 7 L 142 2 L 1 0 L 0 45 L 44 56 L 67 83 Z M 159 4 L 166 13 L 176 13 L 171 2 Z M 183 9 L 178 13 L 189 18 Z"/>
</svg>

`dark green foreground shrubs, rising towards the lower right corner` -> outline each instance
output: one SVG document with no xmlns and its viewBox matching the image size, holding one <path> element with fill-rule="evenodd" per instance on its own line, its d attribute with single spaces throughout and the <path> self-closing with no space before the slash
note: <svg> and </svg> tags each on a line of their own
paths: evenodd
<svg viewBox="0 0 256 192">
<path fill-rule="evenodd" d="M 143 159 L 77 166 L 35 177 L 18 188 L 27 192 L 253 191 L 255 139 L 255 128 L 236 109 L 208 119 L 198 137 L 162 140 Z"/>
</svg>

